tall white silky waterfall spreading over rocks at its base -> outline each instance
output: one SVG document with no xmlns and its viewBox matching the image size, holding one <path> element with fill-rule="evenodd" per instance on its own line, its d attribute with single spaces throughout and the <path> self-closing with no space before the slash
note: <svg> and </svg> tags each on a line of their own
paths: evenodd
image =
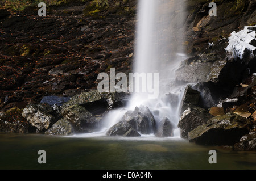
<svg viewBox="0 0 256 181">
<path fill-rule="evenodd" d="M 158 73 L 159 82 L 154 82 L 154 86 L 157 86 L 159 94 L 158 98 L 148 99 L 148 92 L 133 93 L 126 107 L 134 110 L 136 106 L 147 106 L 156 123 L 167 117 L 176 127 L 185 89 L 185 85 L 175 82 L 175 70 L 185 59 L 184 6 L 184 0 L 139 0 L 133 72 Z M 109 126 L 117 123 L 123 113 L 123 110 L 110 113 Z"/>
</svg>

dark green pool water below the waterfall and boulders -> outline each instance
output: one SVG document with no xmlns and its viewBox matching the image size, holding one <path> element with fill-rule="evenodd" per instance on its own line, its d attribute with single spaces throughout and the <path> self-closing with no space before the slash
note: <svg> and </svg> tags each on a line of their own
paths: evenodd
<svg viewBox="0 0 256 181">
<path fill-rule="evenodd" d="M 181 138 L 0 133 L 0 144 L 1 170 L 256 169 L 256 151 L 200 146 Z M 38 163 L 39 150 L 46 151 L 46 163 Z M 210 150 L 216 150 L 216 164 L 208 161 Z"/>
</svg>

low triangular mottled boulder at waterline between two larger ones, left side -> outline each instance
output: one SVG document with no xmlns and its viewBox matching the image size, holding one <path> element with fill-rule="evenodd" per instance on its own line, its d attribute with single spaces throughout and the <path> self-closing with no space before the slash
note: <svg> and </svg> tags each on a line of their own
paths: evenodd
<svg viewBox="0 0 256 181">
<path fill-rule="evenodd" d="M 60 119 L 52 125 L 52 128 L 48 129 L 45 134 L 49 135 L 72 135 L 75 133 L 71 123 L 67 119 Z"/>
</svg>

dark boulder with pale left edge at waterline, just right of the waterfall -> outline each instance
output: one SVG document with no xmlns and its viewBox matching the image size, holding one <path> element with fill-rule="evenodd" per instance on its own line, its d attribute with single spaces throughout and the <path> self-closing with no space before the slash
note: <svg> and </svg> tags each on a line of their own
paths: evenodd
<svg viewBox="0 0 256 181">
<path fill-rule="evenodd" d="M 178 127 L 181 138 L 188 138 L 188 133 L 200 125 L 206 124 L 213 116 L 203 108 L 187 108 L 180 117 Z"/>
</svg>

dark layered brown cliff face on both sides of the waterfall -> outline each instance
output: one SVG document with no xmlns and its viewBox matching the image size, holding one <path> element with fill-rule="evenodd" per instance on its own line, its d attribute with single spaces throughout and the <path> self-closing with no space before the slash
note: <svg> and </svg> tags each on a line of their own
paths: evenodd
<svg viewBox="0 0 256 181">
<path fill-rule="evenodd" d="M 47 6 L 45 17 L 38 16 L 35 3 L 23 11 L 0 9 L 1 110 L 15 108 L 11 111 L 20 116 L 27 104 L 45 96 L 71 97 L 97 89 L 101 72 L 115 68 L 115 73 L 128 73 L 133 68 L 136 0 L 60 2 Z M 176 78 L 197 83 L 197 106 L 210 108 L 222 101 L 226 113 L 247 104 L 251 114 L 256 108 L 255 56 L 248 51 L 243 58 L 228 56 L 225 48 L 233 31 L 255 25 L 256 1 L 216 0 L 217 16 L 209 16 L 210 2 L 185 1 L 186 16 L 176 22 L 175 31 L 184 32 L 177 41 L 189 58 Z M 239 101 L 226 106 L 226 98 Z M 5 113 L 5 122 L 15 123 Z"/>
</svg>

